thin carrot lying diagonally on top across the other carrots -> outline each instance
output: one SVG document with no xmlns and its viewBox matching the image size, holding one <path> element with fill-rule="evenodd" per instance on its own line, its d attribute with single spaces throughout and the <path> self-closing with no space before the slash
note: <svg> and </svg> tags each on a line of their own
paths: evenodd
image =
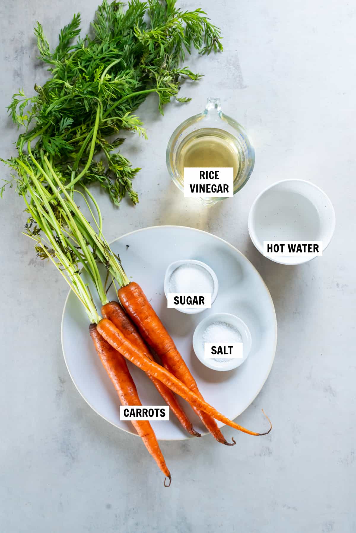
<svg viewBox="0 0 356 533">
<path fill-rule="evenodd" d="M 176 392 L 176 394 L 179 394 L 181 398 L 188 401 L 192 406 L 197 407 L 198 409 L 204 411 L 204 413 L 207 413 L 220 422 L 223 422 L 223 424 L 234 427 L 234 429 L 242 431 L 243 433 L 248 433 L 249 435 L 267 435 L 270 433 L 272 424 L 266 415 L 265 416 L 268 419 L 268 422 L 270 422 L 271 427 L 265 433 L 256 433 L 254 431 L 247 430 L 245 427 L 232 422 L 226 416 L 221 415 L 221 413 L 211 407 L 209 403 L 200 398 L 197 394 L 191 391 L 191 389 L 188 389 L 188 387 L 179 381 L 176 376 L 173 376 L 169 370 L 161 365 L 158 365 L 155 361 L 151 361 L 145 357 L 144 354 L 136 348 L 136 346 L 126 339 L 126 337 L 114 326 L 112 322 L 110 322 L 110 320 L 102 318 L 97 325 L 97 330 L 100 335 L 104 337 L 113 348 L 115 348 L 115 350 L 122 354 L 122 356 L 131 361 L 137 367 L 141 368 L 141 370 L 144 372 L 147 372 L 156 379 L 162 381 L 162 383 L 167 385 L 173 392 Z"/>
</svg>

